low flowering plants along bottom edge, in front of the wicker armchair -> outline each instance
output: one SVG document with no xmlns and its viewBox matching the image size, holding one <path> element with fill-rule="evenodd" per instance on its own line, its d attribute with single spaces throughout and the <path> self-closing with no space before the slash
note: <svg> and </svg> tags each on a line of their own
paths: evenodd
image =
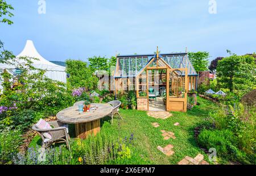
<svg viewBox="0 0 256 176">
<path fill-rule="evenodd" d="M 129 143 L 114 141 L 110 137 L 98 134 L 90 136 L 86 140 L 76 139 L 71 141 L 71 150 L 65 145 L 47 148 L 42 154 L 40 146 L 31 146 L 26 154 L 18 153 L 13 157 L 14 164 L 47 164 L 47 165 L 103 165 L 119 164 L 131 158 L 130 145 L 133 144 L 133 136 Z M 40 157 L 44 156 L 44 160 Z"/>
</svg>

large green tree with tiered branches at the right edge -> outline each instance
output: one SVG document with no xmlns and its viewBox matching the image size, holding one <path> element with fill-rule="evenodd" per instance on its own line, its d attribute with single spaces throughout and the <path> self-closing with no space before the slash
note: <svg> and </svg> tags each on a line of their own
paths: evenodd
<svg viewBox="0 0 256 176">
<path fill-rule="evenodd" d="M 230 91 L 249 91 L 255 85 L 255 58 L 232 55 L 218 61 L 217 81 Z"/>
</svg>

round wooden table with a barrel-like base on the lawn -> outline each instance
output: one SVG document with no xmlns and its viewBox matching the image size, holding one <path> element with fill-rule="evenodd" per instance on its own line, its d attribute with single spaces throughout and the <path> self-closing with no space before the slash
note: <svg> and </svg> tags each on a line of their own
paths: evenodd
<svg viewBox="0 0 256 176">
<path fill-rule="evenodd" d="M 75 124 L 77 138 L 86 139 L 90 135 L 97 135 L 101 130 L 100 119 L 111 114 L 113 107 L 110 104 L 93 103 L 90 112 L 79 113 L 78 104 L 82 102 L 60 111 L 56 115 L 57 119 L 62 123 Z"/>
</svg>

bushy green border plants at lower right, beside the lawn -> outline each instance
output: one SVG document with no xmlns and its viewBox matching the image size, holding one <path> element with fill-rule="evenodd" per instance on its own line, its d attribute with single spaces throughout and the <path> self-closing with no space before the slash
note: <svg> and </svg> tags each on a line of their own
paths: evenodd
<svg viewBox="0 0 256 176">
<path fill-rule="evenodd" d="M 204 130 L 198 141 L 205 148 L 216 148 L 222 156 L 244 164 L 255 163 L 255 107 L 234 104 L 210 113 L 212 131 Z"/>
</svg>

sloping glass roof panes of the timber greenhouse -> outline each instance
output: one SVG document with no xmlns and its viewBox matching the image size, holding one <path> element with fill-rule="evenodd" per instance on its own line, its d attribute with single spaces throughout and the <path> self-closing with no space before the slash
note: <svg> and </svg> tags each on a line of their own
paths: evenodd
<svg viewBox="0 0 256 176">
<path fill-rule="evenodd" d="M 197 76 L 187 53 L 161 53 L 160 56 L 173 69 L 188 68 L 188 76 Z M 120 55 L 115 70 L 115 78 L 135 77 L 152 59 L 153 55 Z"/>
</svg>

